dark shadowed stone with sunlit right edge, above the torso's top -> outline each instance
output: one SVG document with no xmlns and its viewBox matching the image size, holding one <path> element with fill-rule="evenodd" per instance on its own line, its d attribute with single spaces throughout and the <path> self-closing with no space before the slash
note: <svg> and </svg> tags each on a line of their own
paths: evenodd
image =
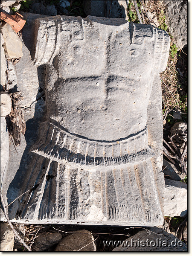
<svg viewBox="0 0 192 256">
<path fill-rule="evenodd" d="M 129 1 L 83 1 L 85 14 L 96 17 L 124 18 L 128 20 Z"/>
</svg>

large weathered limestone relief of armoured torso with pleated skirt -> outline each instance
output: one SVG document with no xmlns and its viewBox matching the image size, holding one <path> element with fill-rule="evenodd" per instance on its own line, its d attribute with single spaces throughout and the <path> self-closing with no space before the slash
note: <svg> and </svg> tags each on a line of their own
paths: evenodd
<svg viewBox="0 0 192 256">
<path fill-rule="evenodd" d="M 32 68 L 44 70 L 38 80 L 46 112 L 39 140 L 32 148 L 26 141 L 30 163 L 21 159 L 26 173 L 19 192 L 30 191 L 10 216 L 36 223 L 163 224 L 158 73 L 166 68 L 168 34 L 124 19 L 38 17 L 35 52 L 28 49 Z M 23 41 L 27 45 L 27 37 Z M 18 84 L 26 79 L 22 72 Z"/>
</svg>

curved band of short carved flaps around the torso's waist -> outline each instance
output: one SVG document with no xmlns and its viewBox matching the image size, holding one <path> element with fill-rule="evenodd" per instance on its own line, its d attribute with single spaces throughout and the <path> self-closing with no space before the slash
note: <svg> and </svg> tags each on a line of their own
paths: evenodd
<svg viewBox="0 0 192 256">
<path fill-rule="evenodd" d="M 116 141 L 90 140 L 71 134 L 54 120 L 44 122 L 41 130 L 40 141 L 32 152 L 55 161 L 110 166 L 141 162 L 154 156 L 148 146 L 147 127 Z"/>
</svg>

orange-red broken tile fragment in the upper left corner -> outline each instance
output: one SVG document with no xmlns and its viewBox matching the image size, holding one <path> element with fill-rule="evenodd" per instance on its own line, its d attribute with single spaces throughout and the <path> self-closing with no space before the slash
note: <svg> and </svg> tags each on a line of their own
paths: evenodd
<svg viewBox="0 0 192 256">
<path fill-rule="evenodd" d="M 1 12 L 1 20 L 8 23 L 16 33 L 19 32 L 26 23 L 26 20 L 23 20 L 23 16 L 17 12 L 15 15 L 9 15 L 6 12 Z"/>
</svg>

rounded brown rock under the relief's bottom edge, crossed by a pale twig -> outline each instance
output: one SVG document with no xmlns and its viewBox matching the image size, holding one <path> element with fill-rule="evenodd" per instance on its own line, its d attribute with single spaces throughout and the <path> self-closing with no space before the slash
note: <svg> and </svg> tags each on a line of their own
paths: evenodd
<svg viewBox="0 0 192 256">
<path fill-rule="evenodd" d="M 94 237 L 88 230 L 78 230 L 64 237 L 57 245 L 55 252 L 95 252 Z"/>
</svg>

